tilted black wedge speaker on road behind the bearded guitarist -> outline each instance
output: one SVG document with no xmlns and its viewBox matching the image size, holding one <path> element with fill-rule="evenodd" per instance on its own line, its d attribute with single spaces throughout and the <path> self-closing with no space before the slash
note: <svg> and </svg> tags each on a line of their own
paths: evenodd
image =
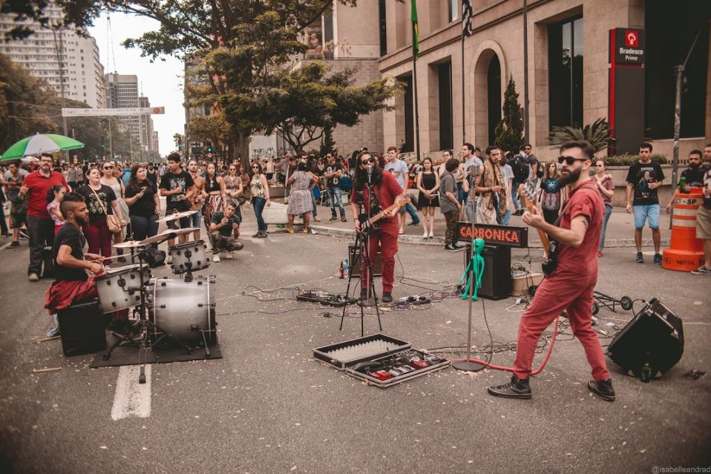
<svg viewBox="0 0 711 474">
<path fill-rule="evenodd" d="M 640 377 L 649 364 L 652 376 L 673 367 L 684 353 L 684 329 L 681 318 L 652 298 L 627 323 L 607 348 L 609 357 L 622 370 Z"/>
</svg>

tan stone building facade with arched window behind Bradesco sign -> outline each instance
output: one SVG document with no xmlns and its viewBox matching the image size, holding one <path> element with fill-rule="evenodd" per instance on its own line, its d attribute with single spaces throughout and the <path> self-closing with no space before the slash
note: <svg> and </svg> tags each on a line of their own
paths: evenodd
<svg viewBox="0 0 711 474">
<path fill-rule="evenodd" d="M 373 2 L 375 3 L 375 2 Z M 380 1 L 385 34 L 378 68 L 405 82 L 407 92 L 383 113 L 383 144 L 415 147 L 412 107 L 410 1 Z M 461 43 L 461 0 L 419 0 L 417 97 L 422 153 L 441 156 L 464 141 L 486 146 L 501 119 L 510 77 L 524 107 L 523 1 L 472 0 L 472 35 Z M 609 120 L 609 30 L 646 33 L 644 136 L 655 152 L 671 156 L 673 65 L 683 62 L 700 31 L 685 75 L 680 156 L 711 140 L 709 28 L 711 2 L 688 0 L 528 0 L 529 139 L 540 157 L 557 156 L 548 146 L 553 125 Z M 375 22 L 373 22 L 375 23 Z M 674 33 L 671 33 L 674 32 Z M 572 54 L 571 54 L 572 53 Z M 464 65 L 464 67 L 463 67 Z M 462 89 L 464 75 L 464 89 Z M 462 105 L 464 104 L 464 113 Z M 464 117 L 464 119 L 463 119 Z"/>
</svg>

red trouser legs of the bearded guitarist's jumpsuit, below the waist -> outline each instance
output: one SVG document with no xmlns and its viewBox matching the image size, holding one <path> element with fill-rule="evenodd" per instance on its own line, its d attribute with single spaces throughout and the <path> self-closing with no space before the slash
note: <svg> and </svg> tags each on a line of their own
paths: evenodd
<svg viewBox="0 0 711 474">
<path fill-rule="evenodd" d="M 592 378 L 598 381 L 610 378 L 600 341 L 591 323 L 596 282 L 597 275 L 553 274 L 543 280 L 535 292 L 533 303 L 518 324 L 518 347 L 513 364 L 516 377 L 528 379 L 540 334 L 565 309 L 570 328 L 582 344 L 587 362 L 592 367 Z"/>
</svg>

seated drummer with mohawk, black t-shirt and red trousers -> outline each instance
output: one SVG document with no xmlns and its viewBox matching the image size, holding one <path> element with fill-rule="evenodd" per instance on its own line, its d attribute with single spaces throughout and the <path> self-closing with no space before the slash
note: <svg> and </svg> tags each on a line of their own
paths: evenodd
<svg viewBox="0 0 711 474">
<path fill-rule="evenodd" d="M 45 295 L 45 308 L 53 318 L 56 318 L 57 311 L 97 296 L 94 276 L 104 271 L 100 255 L 84 254 L 82 250 L 86 239 L 81 227 L 87 225 L 89 219 L 89 210 L 82 195 L 66 193 L 60 210 L 66 223 L 54 236 L 52 256 L 55 281 Z M 87 275 L 87 270 L 92 273 L 91 276 Z"/>
</svg>

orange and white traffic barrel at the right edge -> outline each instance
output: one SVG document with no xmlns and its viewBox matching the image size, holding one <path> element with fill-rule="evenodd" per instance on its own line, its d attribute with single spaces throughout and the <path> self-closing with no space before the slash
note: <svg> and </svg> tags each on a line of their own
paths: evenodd
<svg viewBox="0 0 711 474">
<path fill-rule="evenodd" d="M 664 251 L 663 268 L 692 271 L 704 264 L 704 241 L 696 238 L 696 212 L 703 200 L 701 188 L 690 188 L 689 193 L 676 191 L 671 244 Z"/>
</svg>

